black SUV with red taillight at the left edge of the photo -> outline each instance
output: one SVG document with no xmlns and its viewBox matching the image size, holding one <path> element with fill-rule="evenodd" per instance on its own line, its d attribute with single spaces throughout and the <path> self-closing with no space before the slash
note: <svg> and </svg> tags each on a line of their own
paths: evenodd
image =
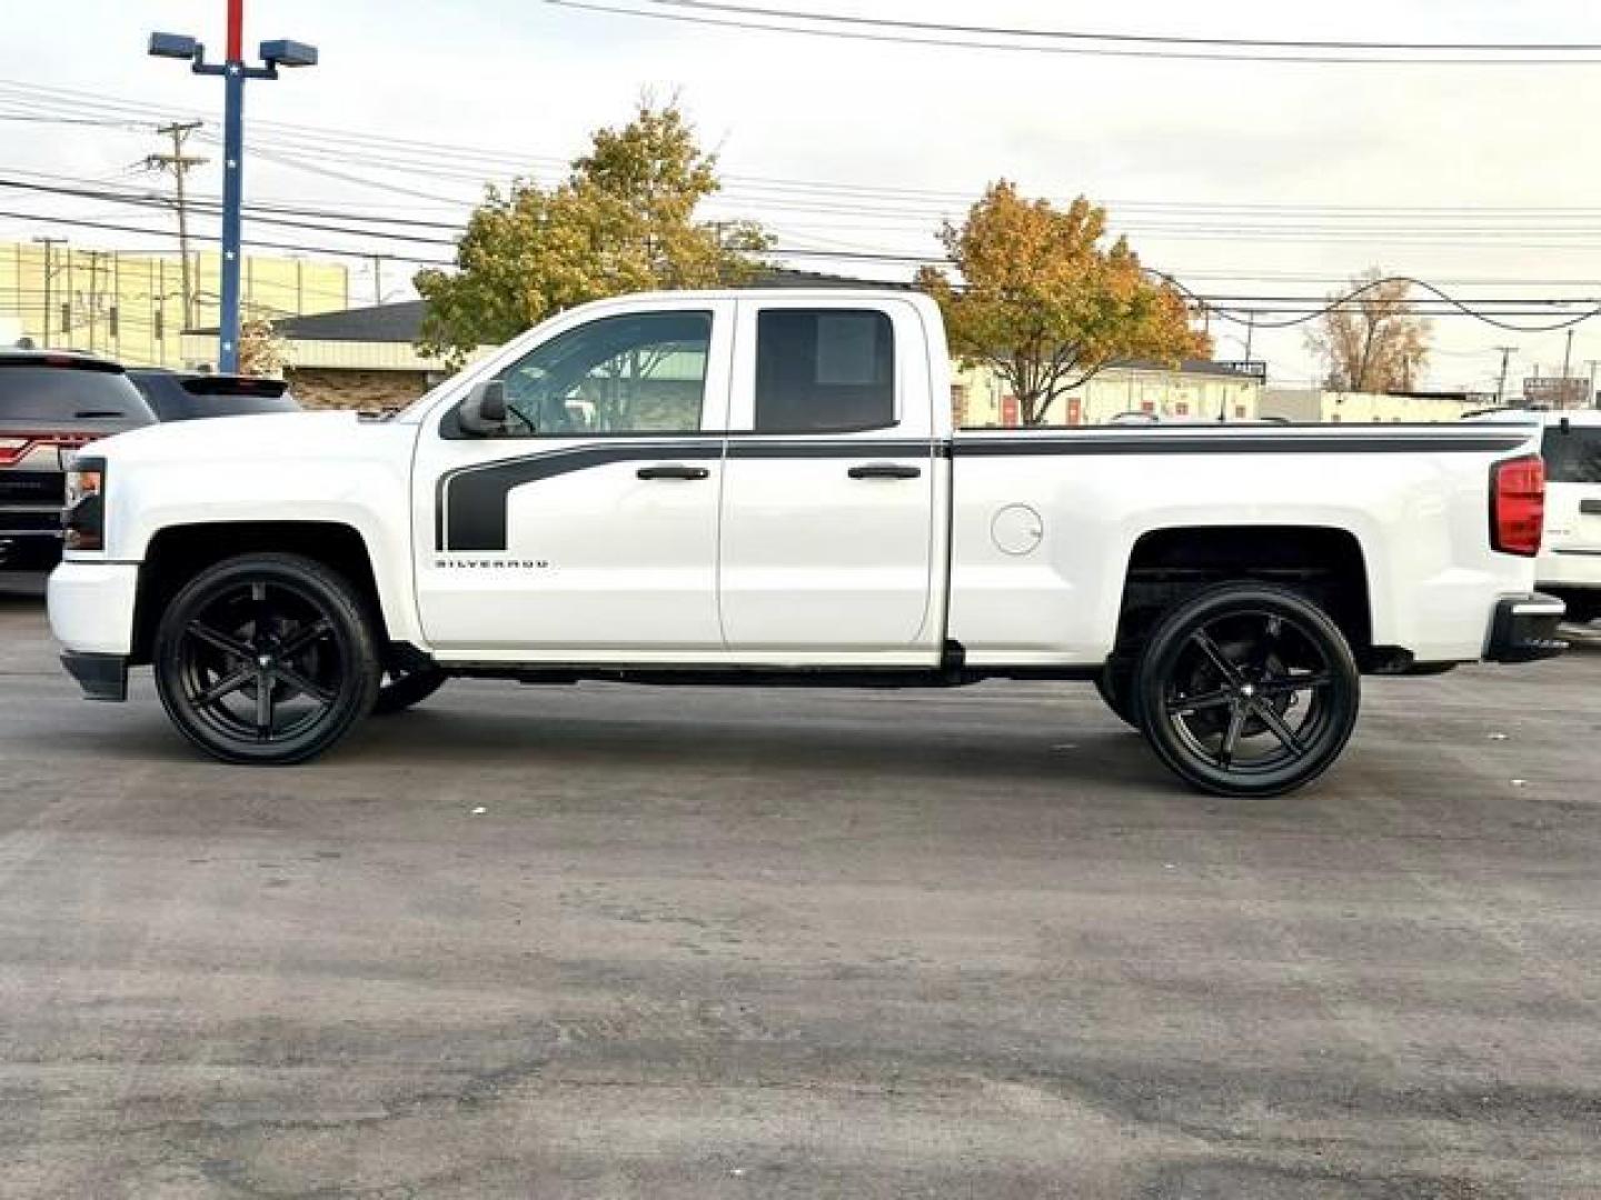
<svg viewBox="0 0 1601 1200">
<path fill-rule="evenodd" d="M 0 571 L 61 558 L 66 462 L 155 421 L 122 366 L 66 350 L 0 350 Z"/>
</svg>

